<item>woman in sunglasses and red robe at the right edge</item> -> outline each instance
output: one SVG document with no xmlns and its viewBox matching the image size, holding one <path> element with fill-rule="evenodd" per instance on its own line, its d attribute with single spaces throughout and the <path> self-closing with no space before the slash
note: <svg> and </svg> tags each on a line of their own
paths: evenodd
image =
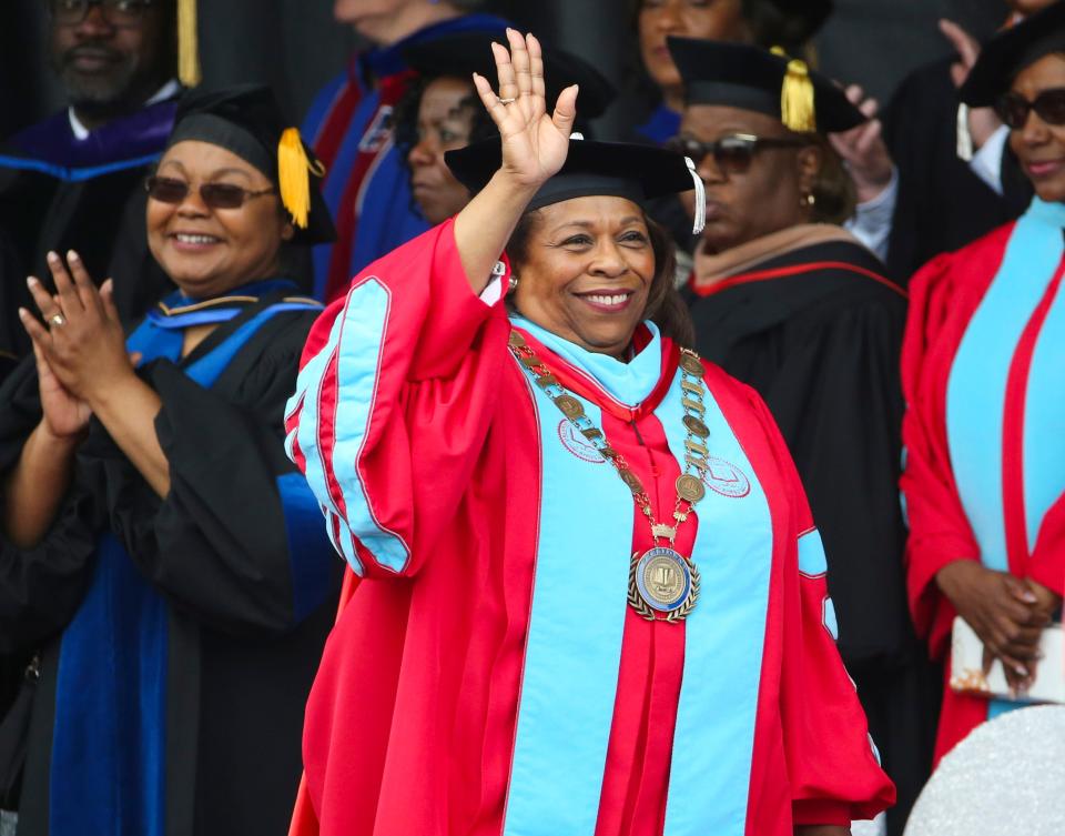
<svg viewBox="0 0 1065 836">
<path fill-rule="evenodd" d="M 944 656 L 961 615 L 1017 692 L 1065 585 L 1063 49 L 1056 3 L 996 36 L 962 89 L 973 107 L 997 103 L 1036 198 L 1015 223 L 917 273 L 903 345 L 914 621 Z M 1022 705 L 947 688 L 937 757 Z"/>
</svg>

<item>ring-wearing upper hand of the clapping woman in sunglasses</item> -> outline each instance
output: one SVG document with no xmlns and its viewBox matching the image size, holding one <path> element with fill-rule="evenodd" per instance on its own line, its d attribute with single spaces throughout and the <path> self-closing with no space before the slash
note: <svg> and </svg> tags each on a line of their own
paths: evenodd
<svg viewBox="0 0 1065 836">
<path fill-rule="evenodd" d="M 97 290 L 78 253 L 67 259 L 69 271 L 58 254 L 48 254 L 57 294 L 49 296 L 40 283 L 31 288 L 47 329 L 34 320 L 27 331 L 63 387 L 93 406 L 109 386 L 133 374 L 133 364 L 111 280 Z"/>
</svg>

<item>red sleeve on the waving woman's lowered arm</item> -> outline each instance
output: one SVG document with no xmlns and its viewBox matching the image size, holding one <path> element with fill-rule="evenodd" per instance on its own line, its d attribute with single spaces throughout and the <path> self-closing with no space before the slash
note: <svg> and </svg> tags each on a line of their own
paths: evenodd
<svg viewBox="0 0 1065 836">
<path fill-rule="evenodd" d="M 757 395 L 755 395 L 757 397 Z M 828 563 L 799 473 L 769 410 L 755 404 L 791 508 L 783 544 L 780 717 L 795 825 L 850 825 L 895 800 L 865 714 L 835 647 Z"/>
</svg>

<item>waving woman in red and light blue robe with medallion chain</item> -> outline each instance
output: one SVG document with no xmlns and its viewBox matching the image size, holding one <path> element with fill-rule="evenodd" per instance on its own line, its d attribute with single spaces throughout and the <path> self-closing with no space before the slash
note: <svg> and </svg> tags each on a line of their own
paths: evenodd
<svg viewBox="0 0 1065 836">
<path fill-rule="evenodd" d="M 448 157 L 477 197 L 355 279 L 290 402 L 363 578 L 295 832 L 845 834 L 893 788 L 787 449 L 682 348 L 640 203 L 688 165 L 568 140 L 576 88 L 547 114 L 539 46 L 509 44 L 501 98 L 476 79 L 503 142 Z"/>
</svg>

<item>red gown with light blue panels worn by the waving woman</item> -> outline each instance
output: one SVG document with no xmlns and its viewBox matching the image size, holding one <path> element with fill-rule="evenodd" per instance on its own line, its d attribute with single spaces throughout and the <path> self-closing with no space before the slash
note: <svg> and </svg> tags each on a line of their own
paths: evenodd
<svg viewBox="0 0 1065 836">
<path fill-rule="evenodd" d="M 731 461 L 677 546 L 718 556 L 688 622 L 649 623 L 623 602 L 647 522 L 538 400 L 510 328 L 470 292 L 447 222 L 371 265 L 312 333 L 288 450 L 363 581 L 307 706 L 314 815 L 294 833 L 790 836 L 890 805 L 830 634 L 820 537 L 757 394 L 708 367 L 711 446 Z M 658 382 L 626 405 L 527 339 L 668 516 L 676 346 L 661 341 Z"/>
</svg>

